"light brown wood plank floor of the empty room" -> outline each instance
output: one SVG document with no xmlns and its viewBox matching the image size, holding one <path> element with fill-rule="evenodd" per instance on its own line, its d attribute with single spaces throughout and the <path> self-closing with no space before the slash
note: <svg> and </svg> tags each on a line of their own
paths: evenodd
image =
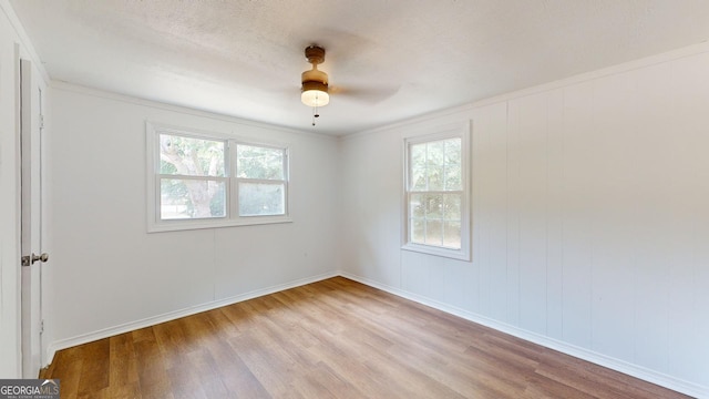
<svg viewBox="0 0 709 399">
<path fill-rule="evenodd" d="M 62 398 L 685 398 L 337 277 L 61 350 Z"/>
</svg>

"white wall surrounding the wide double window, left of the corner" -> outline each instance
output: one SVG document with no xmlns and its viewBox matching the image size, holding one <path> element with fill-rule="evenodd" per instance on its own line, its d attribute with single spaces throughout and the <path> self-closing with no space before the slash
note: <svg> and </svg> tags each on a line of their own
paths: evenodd
<svg viewBox="0 0 709 399">
<path fill-rule="evenodd" d="M 59 83 L 51 94 L 52 349 L 338 270 L 335 137 Z M 147 234 L 146 121 L 290 144 L 294 223 Z"/>
</svg>

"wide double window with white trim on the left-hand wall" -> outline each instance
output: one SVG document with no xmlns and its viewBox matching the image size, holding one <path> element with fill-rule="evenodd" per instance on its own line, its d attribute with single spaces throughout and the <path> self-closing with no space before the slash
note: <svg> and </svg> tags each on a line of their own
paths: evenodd
<svg viewBox="0 0 709 399">
<path fill-rule="evenodd" d="M 290 222 L 288 147 L 147 123 L 148 232 Z"/>
</svg>

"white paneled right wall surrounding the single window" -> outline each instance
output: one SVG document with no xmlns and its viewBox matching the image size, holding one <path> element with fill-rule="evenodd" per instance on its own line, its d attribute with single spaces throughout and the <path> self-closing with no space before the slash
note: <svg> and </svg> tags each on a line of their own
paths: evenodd
<svg viewBox="0 0 709 399">
<path fill-rule="evenodd" d="M 343 273 L 709 396 L 709 47 L 343 140 Z M 473 262 L 400 249 L 402 136 L 472 120 Z"/>
</svg>

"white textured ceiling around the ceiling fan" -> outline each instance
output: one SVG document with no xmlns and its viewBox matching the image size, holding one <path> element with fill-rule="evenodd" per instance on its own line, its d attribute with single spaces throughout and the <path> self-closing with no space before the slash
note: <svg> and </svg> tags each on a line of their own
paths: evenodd
<svg viewBox="0 0 709 399">
<path fill-rule="evenodd" d="M 707 0 L 11 4 L 54 80 L 337 135 L 709 38 Z M 299 94 L 314 43 L 336 92 L 315 127 Z"/>
</svg>

